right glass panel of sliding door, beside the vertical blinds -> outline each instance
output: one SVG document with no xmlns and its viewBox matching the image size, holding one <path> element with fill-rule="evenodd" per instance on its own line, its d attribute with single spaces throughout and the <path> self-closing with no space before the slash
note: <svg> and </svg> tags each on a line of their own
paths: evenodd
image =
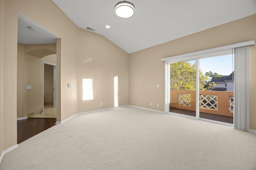
<svg viewBox="0 0 256 170">
<path fill-rule="evenodd" d="M 199 92 L 199 118 L 233 124 L 234 69 L 233 55 L 199 59 L 206 83 Z"/>
</svg>

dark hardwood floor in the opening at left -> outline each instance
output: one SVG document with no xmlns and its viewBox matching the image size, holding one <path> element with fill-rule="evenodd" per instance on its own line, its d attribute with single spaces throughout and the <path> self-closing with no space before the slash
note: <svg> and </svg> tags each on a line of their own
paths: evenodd
<svg viewBox="0 0 256 170">
<path fill-rule="evenodd" d="M 17 143 L 22 143 L 30 137 L 54 126 L 56 119 L 52 118 L 28 118 L 17 121 Z"/>
</svg>

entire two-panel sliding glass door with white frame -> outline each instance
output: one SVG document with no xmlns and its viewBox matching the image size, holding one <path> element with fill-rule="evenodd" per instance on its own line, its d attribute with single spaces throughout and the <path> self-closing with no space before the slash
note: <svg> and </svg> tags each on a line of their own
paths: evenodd
<svg viewBox="0 0 256 170">
<path fill-rule="evenodd" d="M 230 51 L 170 60 L 166 108 L 171 114 L 233 124 L 234 67 Z"/>
</svg>

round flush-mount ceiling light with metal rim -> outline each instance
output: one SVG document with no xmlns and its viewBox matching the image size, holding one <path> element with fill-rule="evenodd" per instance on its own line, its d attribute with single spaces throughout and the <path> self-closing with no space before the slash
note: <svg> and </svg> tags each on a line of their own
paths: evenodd
<svg viewBox="0 0 256 170">
<path fill-rule="evenodd" d="M 120 1 L 115 5 L 115 13 L 120 18 L 130 18 L 134 15 L 135 6 L 132 2 Z"/>
</svg>

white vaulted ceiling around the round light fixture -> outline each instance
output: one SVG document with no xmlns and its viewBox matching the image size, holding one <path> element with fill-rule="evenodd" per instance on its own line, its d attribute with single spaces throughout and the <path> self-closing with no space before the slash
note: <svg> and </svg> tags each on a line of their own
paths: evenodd
<svg viewBox="0 0 256 170">
<path fill-rule="evenodd" d="M 129 0 L 135 14 L 122 19 L 114 13 L 119 1 L 53 0 L 78 27 L 95 29 L 127 53 L 256 14 L 256 0 Z"/>
</svg>

